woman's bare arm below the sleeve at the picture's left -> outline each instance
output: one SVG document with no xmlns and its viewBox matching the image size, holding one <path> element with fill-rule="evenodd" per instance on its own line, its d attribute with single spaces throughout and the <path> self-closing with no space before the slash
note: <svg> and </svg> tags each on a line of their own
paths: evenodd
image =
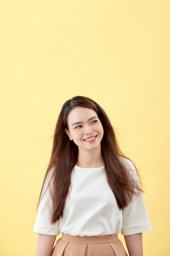
<svg viewBox="0 0 170 256">
<path fill-rule="evenodd" d="M 38 234 L 36 256 L 50 256 L 56 236 Z"/>
</svg>

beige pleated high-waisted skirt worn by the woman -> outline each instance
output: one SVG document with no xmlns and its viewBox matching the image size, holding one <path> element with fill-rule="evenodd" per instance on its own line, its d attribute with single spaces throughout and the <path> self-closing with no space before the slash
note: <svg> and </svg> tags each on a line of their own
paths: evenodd
<svg viewBox="0 0 170 256">
<path fill-rule="evenodd" d="M 71 236 L 63 234 L 50 256 L 127 256 L 118 235 Z"/>
</svg>

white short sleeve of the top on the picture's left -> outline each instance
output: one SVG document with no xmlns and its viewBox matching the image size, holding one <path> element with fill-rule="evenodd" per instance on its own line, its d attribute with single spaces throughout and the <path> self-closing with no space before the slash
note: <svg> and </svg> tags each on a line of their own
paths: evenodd
<svg viewBox="0 0 170 256">
<path fill-rule="evenodd" d="M 52 215 L 52 200 L 49 189 L 45 191 L 39 203 L 37 218 L 35 221 L 33 232 L 45 235 L 59 235 L 59 222 L 54 225 L 50 222 Z"/>
</svg>

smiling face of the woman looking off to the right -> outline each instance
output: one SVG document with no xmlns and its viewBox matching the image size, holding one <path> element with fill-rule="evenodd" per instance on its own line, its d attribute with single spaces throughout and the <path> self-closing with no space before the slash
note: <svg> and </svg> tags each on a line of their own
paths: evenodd
<svg viewBox="0 0 170 256">
<path fill-rule="evenodd" d="M 78 150 L 92 150 L 100 146 L 103 127 L 96 112 L 89 108 L 76 107 L 68 115 L 68 129 L 65 132 Z"/>
</svg>

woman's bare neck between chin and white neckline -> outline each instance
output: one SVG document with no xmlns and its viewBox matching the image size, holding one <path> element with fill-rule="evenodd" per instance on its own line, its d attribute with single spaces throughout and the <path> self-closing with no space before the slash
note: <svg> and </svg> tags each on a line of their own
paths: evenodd
<svg viewBox="0 0 170 256">
<path fill-rule="evenodd" d="M 104 166 L 101 150 L 79 150 L 76 165 L 83 168 Z"/>
</svg>

